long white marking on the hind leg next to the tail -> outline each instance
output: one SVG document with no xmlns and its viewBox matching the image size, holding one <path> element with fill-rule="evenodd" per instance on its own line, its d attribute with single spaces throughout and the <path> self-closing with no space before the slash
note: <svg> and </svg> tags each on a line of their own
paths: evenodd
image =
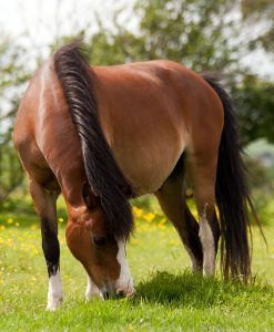
<svg viewBox="0 0 274 332">
<path fill-rule="evenodd" d="M 203 271 L 204 274 L 214 276 L 215 273 L 215 245 L 214 237 L 210 224 L 206 219 L 206 214 L 200 218 L 199 236 L 203 248 Z"/>
</svg>

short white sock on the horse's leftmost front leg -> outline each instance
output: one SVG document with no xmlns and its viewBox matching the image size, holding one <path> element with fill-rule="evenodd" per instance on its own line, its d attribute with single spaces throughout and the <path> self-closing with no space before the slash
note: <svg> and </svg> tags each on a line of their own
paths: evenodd
<svg viewBox="0 0 274 332">
<path fill-rule="evenodd" d="M 49 279 L 47 310 L 54 311 L 63 301 L 63 291 L 59 270 Z"/>
</svg>

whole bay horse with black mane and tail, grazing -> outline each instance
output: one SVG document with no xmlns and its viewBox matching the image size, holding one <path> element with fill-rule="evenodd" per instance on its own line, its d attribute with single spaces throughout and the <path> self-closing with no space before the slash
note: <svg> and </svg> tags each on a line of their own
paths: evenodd
<svg viewBox="0 0 274 332">
<path fill-rule="evenodd" d="M 132 295 L 125 243 L 130 198 L 154 194 L 194 271 L 251 273 L 248 206 L 230 95 L 211 75 L 165 60 L 90 66 L 81 44 L 59 49 L 31 79 L 13 133 L 41 220 L 48 310 L 62 302 L 55 203 L 67 243 L 88 272 L 87 300 Z M 184 193 L 190 178 L 199 222 Z M 219 208 L 219 217 L 215 211 Z"/>
</svg>

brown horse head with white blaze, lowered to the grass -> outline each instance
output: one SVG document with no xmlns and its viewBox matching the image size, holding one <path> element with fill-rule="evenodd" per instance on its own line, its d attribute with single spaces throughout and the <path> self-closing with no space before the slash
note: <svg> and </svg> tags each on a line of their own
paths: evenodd
<svg viewBox="0 0 274 332">
<path fill-rule="evenodd" d="M 81 207 L 69 209 L 65 237 L 72 255 L 89 274 L 87 298 L 130 297 L 134 288 L 125 257 L 125 239 L 110 231 L 100 199 L 87 183 L 82 198 Z"/>
</svg>

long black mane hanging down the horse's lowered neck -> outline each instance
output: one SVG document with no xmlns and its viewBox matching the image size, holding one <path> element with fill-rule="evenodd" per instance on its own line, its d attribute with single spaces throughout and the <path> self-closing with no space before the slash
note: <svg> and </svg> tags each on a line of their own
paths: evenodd
<svg viewBox="0 0 274 332">
<path fill-rule="evenodd" d="M 133 218 L 128 197 L 131 187 L 120 170 L 103 135 L 94 95 L 94 74 L 75 41 L 54 53 L 54 69 L 75 124 L 89 184 L 100 197 L 109 230 L 128 238 Z"/>
</svg>

